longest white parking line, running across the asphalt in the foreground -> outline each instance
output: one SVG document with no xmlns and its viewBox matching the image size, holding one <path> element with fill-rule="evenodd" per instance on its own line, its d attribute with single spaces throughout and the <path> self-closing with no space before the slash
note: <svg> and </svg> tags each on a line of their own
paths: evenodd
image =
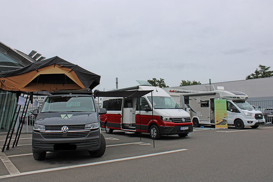
<svg viewBox="0 0 273 182">
<path fill-rule="evenodd" d="M 36 174 L 36 173 L 43 173 L 43 172 L 49 172 L 49 171 L 56 171 L 56 170 L 62 170 L 62 169 L 72 169 L 72 168 L 76 168 L 76 167 L 93 166 L 93 165 L 97 165 L 97 164 L 111 163 L 111 162 L 117 162 L 117 161 L 123 161 L 123 160 L 138 159 L 138 158 L 143 158 L 143 157 L 150 157 L 150 156 L 162 155 L 162 154 L 167 154 L 167 153 L 180 152 L 180 151 L 185 151 L 185 150 L 188 150 L 188 149 L 171 150 L 171 151 L 166 151 L 166 152 L 151 153 L 151 154 L 134 156 L 134 157 L 126 157 L 126 158 L 113 159 L 113 160 L 105 160 L 105 161 L 100 161 L 100 162 L 79 164 L 79 165 L 73 165 L 73 166 L 56 167 L 56 168 L 51 168 L 51 169 L 29 171 L 29 172 L 23 172 L 23 173 L 19 172 L 18 174 L 9 174 L 9 175 L 0 176 L 0 179 L 1 178 L 14 177 L 14 176 L 22 176 L 22 175 L 27 175 L 27 174 Z"/>
</svg>

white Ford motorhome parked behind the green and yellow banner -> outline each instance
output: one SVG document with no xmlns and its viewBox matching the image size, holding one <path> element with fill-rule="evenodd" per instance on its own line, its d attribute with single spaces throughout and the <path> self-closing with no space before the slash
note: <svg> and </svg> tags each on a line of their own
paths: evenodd
<svg viewBox="0 0 273 182">
<path fill-rule="evenodd" d="M 227 124 L 235 126 L 236 129 L 243 129 L 244 126 L 258 128 L 265 124 L 261 111 L 255 110 L 246 101 L 248 96 L 242 92 L 213 90 L 181 94 L 180 106 L 184 106 L 186 110 L 190 108 L 194 127 L 200 127 L 200 124 L 215 125 L 214 99 L 226 99 Z"/>
</svg>

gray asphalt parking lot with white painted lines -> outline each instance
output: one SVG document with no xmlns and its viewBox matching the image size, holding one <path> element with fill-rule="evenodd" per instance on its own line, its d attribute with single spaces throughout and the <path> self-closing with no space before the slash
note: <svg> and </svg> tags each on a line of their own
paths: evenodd
<svg viewBox="0 0 273 182">
<path fill-rule="evenodd" d="M 106 152 L 47 153 L 32 157 L 32 134 L 1 152 L 2 181 L 272 181 L 273 126 L 244 130 L 194 128 L 187 137 L 115 130 L 106 134 Z M 0 135 L 1 150 L 5 135 Z M 11 142 L 12 143 L 12 142 Z"/>
</svg>

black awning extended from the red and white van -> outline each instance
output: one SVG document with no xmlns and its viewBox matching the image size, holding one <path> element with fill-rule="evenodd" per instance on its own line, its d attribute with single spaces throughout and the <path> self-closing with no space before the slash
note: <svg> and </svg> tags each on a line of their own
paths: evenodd
<svg viewBox="0 0 273 182">
<path fill-rule="evenodd" d="M 130 90 L 130 91 L 94 91 L 95 97 L 141 97 L 153 90 Z"/>
</svg>

